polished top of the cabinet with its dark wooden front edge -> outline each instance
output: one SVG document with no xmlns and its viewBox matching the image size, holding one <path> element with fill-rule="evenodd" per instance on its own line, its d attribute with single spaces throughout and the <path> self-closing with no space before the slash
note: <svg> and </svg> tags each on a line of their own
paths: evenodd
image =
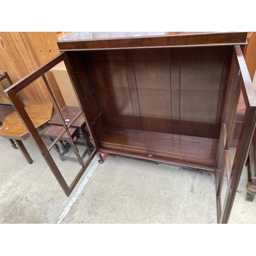
<svg viewBox="0 0 256 256">
<path fill-rule="evenodd" d="M 233 33 L 193 33 L 193 34 L 163 34 L 140 35 L 118 37 L 118 32 L 102 33 L 101 39 L 90 39 L 87 32 L 79 34 L 71 33 L 67 37 L 58 41 L 60 50 L 86 50 L 86 49 L 122 49 L 122 48 L 148 48 L 148 47 L 180 47 L 180 46 L 199 46 L 199 45 L 245 45 L 246 32 Z M 137 32 L 136 32 L 137 33 Z M 160 34 L 160 35 L 159 35 Z M 131 33 L 132 35 L 132 33 Z M 139 36 L 137 36 L 139 35 Z"/>
</svg>

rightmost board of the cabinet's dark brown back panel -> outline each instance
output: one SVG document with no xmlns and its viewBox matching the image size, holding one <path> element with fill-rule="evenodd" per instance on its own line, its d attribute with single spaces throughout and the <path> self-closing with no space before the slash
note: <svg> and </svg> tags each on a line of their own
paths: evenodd
<svg viewBox="0 0 256 256">
<path fill-rule="evenodd" d="M 215 137 L 224 63 L 224 47 L 180 50 L 181 134 Z"/>
</svg>

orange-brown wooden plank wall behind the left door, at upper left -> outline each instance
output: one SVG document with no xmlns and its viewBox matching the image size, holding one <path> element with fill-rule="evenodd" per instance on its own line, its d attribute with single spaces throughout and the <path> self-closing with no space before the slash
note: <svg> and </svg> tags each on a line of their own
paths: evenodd
<svg viewBox="0 0 256 256">
<path fill-rule="evenodd" d="M 0 32 L 0 72 L 7 71 L 15 83 L 58 52 L 57 35 L 54 32 Z M 47 74 L 60 107 L 65 105 L 56 80 L 51 72 Z M 25 105 L 51 102 L 45 84 L 37 80 L 20 93 Z"/>
</svg>

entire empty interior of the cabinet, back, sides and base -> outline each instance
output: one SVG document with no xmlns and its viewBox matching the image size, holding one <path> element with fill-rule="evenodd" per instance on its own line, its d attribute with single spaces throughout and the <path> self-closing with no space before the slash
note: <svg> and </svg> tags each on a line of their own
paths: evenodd
<svg viewBox="0 0 256 256">
<path fill-rule="evenodd" d="M 99 148 L 214 170 L 232 51 L 68 52 Z"/>
</svg>

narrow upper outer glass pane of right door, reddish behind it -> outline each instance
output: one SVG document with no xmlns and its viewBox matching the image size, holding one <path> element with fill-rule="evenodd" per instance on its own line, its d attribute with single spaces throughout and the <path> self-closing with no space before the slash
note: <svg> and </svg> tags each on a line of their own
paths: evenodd
<svg viewBox="0 0 256 256">
<path fill-rule="evenodd" d="M 234 125 L 233 125 L 232 134 L 231 134 L 231 140 L 230 140 L 230 144 L 229 144 L 230 153 L 232 152 L 233 154 L 236 153 L 236 149 L 238 146 L 238 141 L 239 141 L 239 137 L 240 137 L 241 130 L 242 130 L 242 124 L 243 124 L 243 120 L 244 120 L 245 111 L 246 111 L 246 105 L 244 102 L 243 93 L 241 91 L 237 110 L 236 110 L 236 115 L 234 118 Z M 233 150 L 231 150 L 231 148 L 233 148 Z M 233 159 L 234 159 L 234 157 L 231 157 L 231 166 L 233 165 Z"/>
</svg>

